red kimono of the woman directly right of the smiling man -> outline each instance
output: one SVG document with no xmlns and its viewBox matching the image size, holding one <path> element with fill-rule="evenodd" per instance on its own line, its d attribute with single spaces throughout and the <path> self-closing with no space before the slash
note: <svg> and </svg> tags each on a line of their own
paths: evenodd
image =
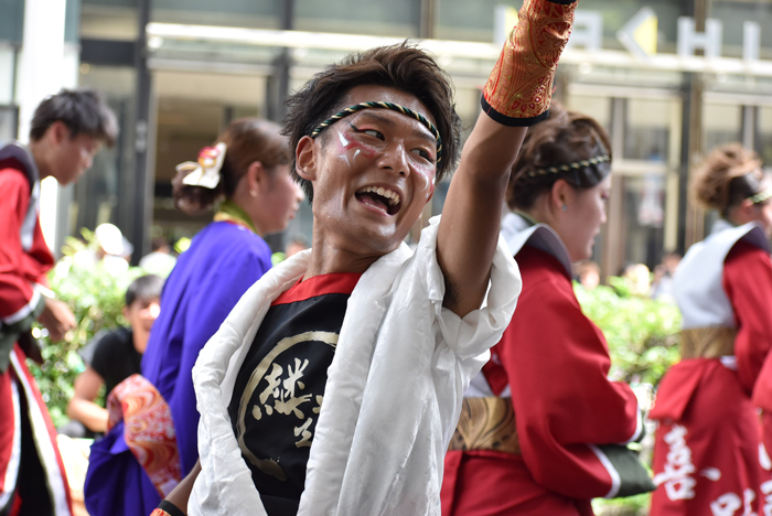
<svg viewBox="0 0 772 516">
<path fill-rule="evenodd" d="M 523 292 L 481 375 L 487 396 L 512 397 L 522 454 L 448 452 L 442 514 L 592 515 L 591 498 L 620 488 L 597 444 L 640 437 L 637 400 L 628 385 L 607 378 L 608 347 L 581 311 L 568 260 L 529 245 L 515 259 Z"/>
</svg>

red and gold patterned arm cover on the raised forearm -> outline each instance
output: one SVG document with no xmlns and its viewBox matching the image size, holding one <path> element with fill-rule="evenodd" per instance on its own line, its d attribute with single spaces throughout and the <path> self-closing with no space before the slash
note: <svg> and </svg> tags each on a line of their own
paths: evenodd
<svg viewBox="0 0 772 516">
<path fill-rule="evenodd" d="M 523 127 L 547 118 L 576 7 L 577 0 L 525 0 L 483 89 L 482 108 L 493 120 Z"/>
</svg>

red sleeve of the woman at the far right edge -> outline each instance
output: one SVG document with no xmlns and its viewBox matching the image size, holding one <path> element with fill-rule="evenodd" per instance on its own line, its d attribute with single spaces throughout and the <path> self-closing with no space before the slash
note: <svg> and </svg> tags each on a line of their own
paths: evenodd
<svg viewBox="0 0 772 516">
<path fill-rule="evenodd" d="M 772 348 L 770 255 L 748 243 L 737 243 L 723 262 L 723 290 L 732 303 L 738 325 L 735 356 L 740 383 L 751 394 Z M 764 369 L 763 383 L 772 383 L 772 364 Z M 772 399 L 766 399 L 765 405 L 772 405 Z"/>
</svg>

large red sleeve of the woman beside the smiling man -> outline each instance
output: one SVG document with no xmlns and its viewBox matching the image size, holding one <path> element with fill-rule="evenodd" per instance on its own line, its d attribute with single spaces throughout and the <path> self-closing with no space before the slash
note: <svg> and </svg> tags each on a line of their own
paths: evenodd
<svg viewBox="0 0 772 516">
<path fill-rule="evenodd" d="M 495 351 L 510 380 L 523 460 L 550 491 L 605 496 L 611 473 L 590 445 L 636 438 L 637 400 L 626 384 L 608 379 L 603 335 L 557 260 L 529 247 L 516 260 L 523 292 Z"/>
</svg>

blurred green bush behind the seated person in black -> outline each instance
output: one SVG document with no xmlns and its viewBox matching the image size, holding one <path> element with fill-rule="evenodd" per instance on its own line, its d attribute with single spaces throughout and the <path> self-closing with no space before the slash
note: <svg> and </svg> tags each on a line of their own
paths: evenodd
<svg viewBox="0 0 772 516">
<path fill-rule="evenodd" d="M 56 427 L 68 421 L 66 409 L 73 385 L 86 368 L 77 351 L 98 332 L 127 324 L 122 314 L 126 289 L 142 275 L 140 268 L 104 267 L 94 258 L 99 248 L 94 233 L 82 229 L 81 234 L 83 240 L 67 238 L 64 256 L 49 273 L 51 290 L 69 305 L 77 327 L 56 343 L 51 342 L 44 327 L 33 329 L 33 335 L 42 341 L 45 362 L 39 366 L 28 361 Z"/>
</svg>

